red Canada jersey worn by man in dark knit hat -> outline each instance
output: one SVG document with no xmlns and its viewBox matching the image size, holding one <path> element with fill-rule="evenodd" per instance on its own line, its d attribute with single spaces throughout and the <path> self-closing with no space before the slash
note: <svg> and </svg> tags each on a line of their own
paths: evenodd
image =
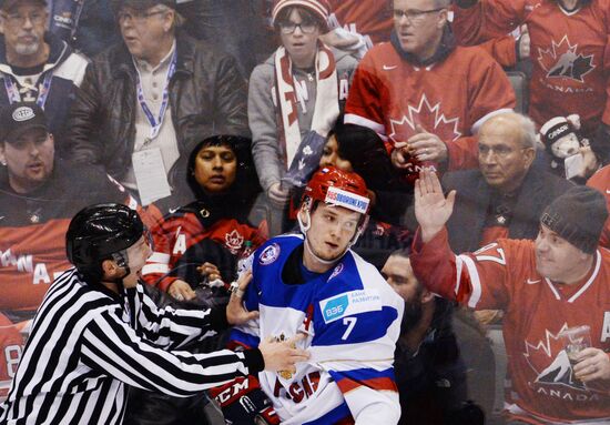
<svg viewBox="0 0 610 425">
<path fill-rule="evenodd" d="M 587 324 L 592 345 L 610 352 L 610 252 L 597 251 L 592 271 L 577 285 L 540 275 L 532 241 L 499 240 L 455 255 L 446 231 L 426 244 L 418 234 L 410 259 L 431 291 L 472 308 L 505 311 L 512 418 L 531 424 L 610 421 L 610 382 L 575 381 L 558 338 L 566 327 Z"/>
</svg>

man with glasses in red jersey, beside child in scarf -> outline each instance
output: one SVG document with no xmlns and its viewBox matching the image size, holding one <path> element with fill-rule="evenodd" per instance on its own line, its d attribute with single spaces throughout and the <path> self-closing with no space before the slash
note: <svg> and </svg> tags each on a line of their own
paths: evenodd
<svg viewBox="0 0 610 425">
<path fill-rule="evenodd" d="M 394 0 L 389 43 L 373 48 L 354 77 L 345 121 L 386 141 L 395 166 L 476 168 L 472 135 L 515 93 L 500 65 L 480 49 L 456 47 L 448 0 Z"/>
</svg>

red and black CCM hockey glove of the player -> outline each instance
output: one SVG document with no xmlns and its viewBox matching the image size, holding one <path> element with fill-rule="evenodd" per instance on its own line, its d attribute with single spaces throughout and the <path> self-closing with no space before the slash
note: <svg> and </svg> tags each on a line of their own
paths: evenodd
<svg viewBox="0 0 610 425">
<path fill-rule="evenodd" d="M 221 405 L 226 424 L 279 424 L 279 416 L 254 376 L 240 376 L 209 393 Z"/>
</svg>

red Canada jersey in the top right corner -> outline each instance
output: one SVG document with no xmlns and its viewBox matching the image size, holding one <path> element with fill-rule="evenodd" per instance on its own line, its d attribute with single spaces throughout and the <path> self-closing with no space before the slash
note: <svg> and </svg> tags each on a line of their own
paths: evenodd
<svg viewBox="0 0 610 425">
<path fill-rule="evenodd" d="M 479 0 L 455 8 L 458 39 L 482 42 L 527 23 L 531 40 L 529 114 L 539 124 L 578 113 L 591 133 L 610 124 L 610 1 L 593 0 L 568 13 L 552 0 Z"/>
</svg>

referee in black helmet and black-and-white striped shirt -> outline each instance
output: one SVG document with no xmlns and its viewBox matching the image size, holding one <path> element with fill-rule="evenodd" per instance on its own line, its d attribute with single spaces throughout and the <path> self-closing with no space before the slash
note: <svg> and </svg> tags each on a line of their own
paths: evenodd
<svg viewBox="0 0 610 425">
<path fill-rule="evenodd" d="M 128 385 L 185 397 L 263 368 L 295 371 L 307 358 L 293 341 L 241 353 L 180 351 L 257 313 L 246 312 L 238 294 L 226 312 L 157 310 L 139 283 L 151 253 L 145 230 L 124 205 L 79 212 L 67 251 L 75 269 L 53 282 L 34 317 L 0 406 L 2 424 L 120 424 Z"/>
</svg>

